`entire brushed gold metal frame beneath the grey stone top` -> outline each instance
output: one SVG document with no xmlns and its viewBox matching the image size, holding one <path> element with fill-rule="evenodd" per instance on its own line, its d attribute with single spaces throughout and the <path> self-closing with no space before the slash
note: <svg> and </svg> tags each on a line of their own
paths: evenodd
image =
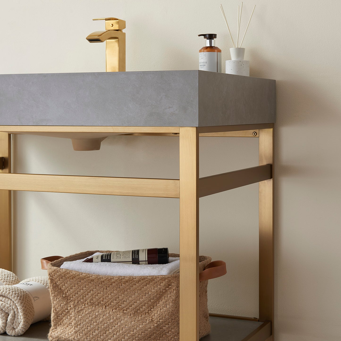
<svg viewBox="0 0 341 341">
<path fill-rule="evenodd" d="M 0 267 L 12 268 L 11 190 L 180 198 L 180 341 L 198 340 L 199 197 L 259 181 L 259 321 L 240 341 L 273 341 L 273 124 L 219 127 L 0 126 Z M 229 134 L 229 132 L 234 132 Z M 246 133 L 245 133 L 246 132 Z M 259 137 L 259 166 L 199 178 L 199 136 Z M 117 134 L 179 136 L 180 179 L 11 174 L 11 134 L 100 138 Z M 105 134 L 103 136 L 103 134 Z M 212 316 L 254 320 L 254 318 Z"/>
</svg>

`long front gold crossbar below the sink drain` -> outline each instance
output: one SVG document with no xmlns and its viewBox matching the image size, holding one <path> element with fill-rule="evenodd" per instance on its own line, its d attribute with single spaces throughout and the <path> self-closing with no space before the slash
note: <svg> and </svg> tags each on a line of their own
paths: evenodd
<svg viewBox="0 0 341 341">
<path fill-rule="evenodd" d="M 177 179 L 0 174 L 0 190 L 179 198 Z"/>
</svg>

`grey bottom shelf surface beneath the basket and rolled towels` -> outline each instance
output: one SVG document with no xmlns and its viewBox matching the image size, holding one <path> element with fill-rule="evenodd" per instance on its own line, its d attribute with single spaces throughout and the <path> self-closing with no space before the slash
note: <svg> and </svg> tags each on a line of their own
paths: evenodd
<svg viewBox="0 0 341 341">
<path fill-rule="evenodd" d="M 221 317 L 210 317 L 210 323 L 211 333 L 202 338 L 201 341 L 241 341 L 262 324 L 262 322 L 234 320 L 232 318 Z M 7 334 L 1 334 L 0 341 L 47 340 L 49 328 L 49 322 L 34 323 L 24 335 L 13 337 Z"/>
</svg>

